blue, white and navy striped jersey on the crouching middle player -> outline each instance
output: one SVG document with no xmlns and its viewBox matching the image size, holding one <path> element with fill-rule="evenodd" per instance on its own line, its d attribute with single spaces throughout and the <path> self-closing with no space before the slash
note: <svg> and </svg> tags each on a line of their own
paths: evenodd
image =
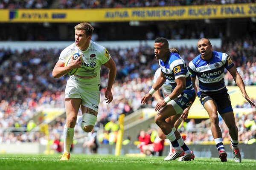
<svg viewBox="0 0 256 170">
<path fill-rule="evenodd" d="M 171 53 L 169 56 L 169 59 L 167 59 L 166 62 L 163 62 L 163 60 L 160 59 L 159 65 L 160 65 L 161 71 L 166 76 L 166 79 L 168 79 L 173 89 L 177 85 L 175 79 L 178 79 L 180 77 L 185 77 L 186 88 L 184 91 L 186 91 L 186 93 L 190 93 L 189 91 L 193 91 L 193 93 L 195 92 L 189 76 L 189 71 L 187 69 L 186 63 L 183 60 L 183 58 L 180 57 L 179 54 Z"/>
</svg>

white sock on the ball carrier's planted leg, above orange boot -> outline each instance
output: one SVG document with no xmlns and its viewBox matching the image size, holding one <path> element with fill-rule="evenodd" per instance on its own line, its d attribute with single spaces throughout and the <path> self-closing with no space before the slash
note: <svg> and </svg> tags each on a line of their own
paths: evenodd
<svg viewBox="0 0 256 170">
<path fill-rule="evenodd" d="M 74 129 L 75 128 L 69 128 L 65 124 L 64 130 L 63 130 L 63 142 L 64 142 L 64 149 L 63 153 L 67 152 L 70 153 L 70 147 L 73 142 L 73 137 L 74 137 Z"/>
</svg>

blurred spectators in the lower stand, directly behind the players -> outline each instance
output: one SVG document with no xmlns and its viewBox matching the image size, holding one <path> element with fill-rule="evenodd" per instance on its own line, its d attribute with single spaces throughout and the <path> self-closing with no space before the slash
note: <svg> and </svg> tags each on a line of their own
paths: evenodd
<svg viewBox="0 0 256 170">
<path fill-rule="evenodd" d="M 245 85 L 256 85 L 255 44 L 255 39 L 245 37 L 224 41 L 221 49 L 215 49 L 230 54 Z M 29 130 L 24 130 L 23 133 L 15 130 L 6 131 L 6 129 L 29 127 L 29 120 L 43 108 L 64 107 L 64 88 L 68 76 L 61 79 L 52 78 L 52 68 L 60 51 L 61 49 L 29 49 L 19 52 L 13 49 L 0 49 L 0 143 L 46 141 L 46 137 L 38 132 L 29 133 Z M 104 102 L 103 94 L 108 72 L 102 68 L 100 88 L 102 99 L 99 106 L 98 127 L 106 125 L 111 119 L 117 120 L 121 113 L 129 114 L 141 108 L 140 100 L 151 88 L 154 71 L 159 67 L 157 60 L 152 60 L 153 48 L 146 44 L 135 48 L 108 48 L 108 51 L 117 66 L 116 81 L 113 85 L 114 100 L 109 105 Z M 198 55 L 197 48 L 182 47 L 180 51 L 186 62 Z M 230 75 L 226 74 L 225 79 L 227 85 L 234 85 Z M 248 106 L 244 104 L 237 107 Z M 255 122 L 256 113 L 237 117 L 239 141 L 246 142 L 255 138 Z M 64 119 L 56 120 L 50 132 L 52 140 L 62 134 L 64 123 Z M 220 121 L 220 124 L 224 129 L 223 136 L 228 138 L 227 127 L 224 127 L 223 121 Z M 203 126 L 209 129 L 209 125 L 202 124 Z M 185 127 L 181 130 L 187 131 L 188 142 L 213 140 L 210 130 L 207 133 L 186 130 Z"/>
</svg>

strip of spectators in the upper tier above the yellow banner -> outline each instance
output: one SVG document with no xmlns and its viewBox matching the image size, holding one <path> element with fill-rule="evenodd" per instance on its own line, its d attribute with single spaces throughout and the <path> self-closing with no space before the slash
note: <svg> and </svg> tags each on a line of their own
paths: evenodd
<svg viewBox="0 0 256 170">
<path fill-rule="evenodd" d="M 131 8 L 255 3 L 255 0 L 3 0 L 0 8 Z"/>
</svg>

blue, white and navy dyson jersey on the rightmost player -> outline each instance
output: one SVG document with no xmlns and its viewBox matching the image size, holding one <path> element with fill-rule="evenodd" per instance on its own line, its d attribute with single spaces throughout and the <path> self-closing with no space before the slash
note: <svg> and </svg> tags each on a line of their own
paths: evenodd
<svg viewBox="0 0 256 170">
<path fill-rule="evenodd" d="M 221 92 L 226 90 L 224 83 L 224 68 L 229 70 L 234 66 L 226 53 L 212 51 L 212 58 L 201 59 L 201 54 L 189 62 L 191 77 L 198 77 L 199 90 L 203 92 Z"/>
</svg>

